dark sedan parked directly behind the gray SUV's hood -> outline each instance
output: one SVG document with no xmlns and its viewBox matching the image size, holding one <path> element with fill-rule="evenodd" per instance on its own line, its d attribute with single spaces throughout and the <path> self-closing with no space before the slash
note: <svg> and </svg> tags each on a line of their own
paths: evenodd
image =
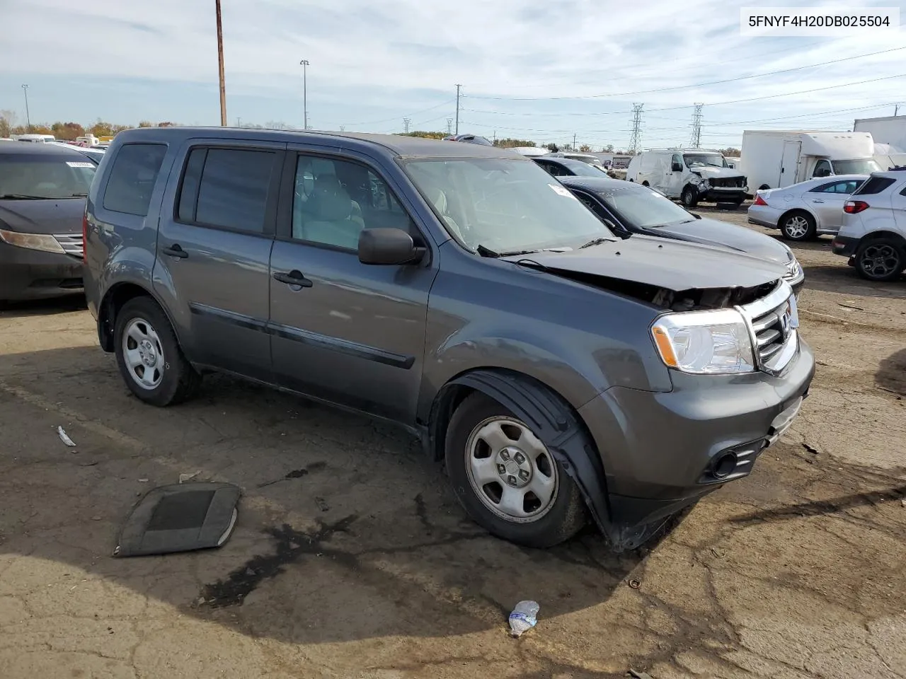
<svg viewBox="0 0 906 679">
<path fill-rule="evenodd" d="M 761 257 L 786 268 L 784 280 L 797 295 L 805 273 L 793 251 L 769 235 L 717 219 L 704 219 L 650 186 L 608 177 L 560 177 L 560 181 L 618 234 L 646 234 L 717 245 Z"/>
</svg>

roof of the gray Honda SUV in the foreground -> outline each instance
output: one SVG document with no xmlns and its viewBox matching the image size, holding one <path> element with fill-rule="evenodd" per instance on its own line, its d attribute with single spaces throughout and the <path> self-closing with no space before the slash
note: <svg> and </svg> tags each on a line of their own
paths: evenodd
<svg viewBox="0 0 906 679">
<path fill-rule="evenodd" d="M 117 135 L 115 141 L 138 141 L 141 138 L 165 140 L 177 137 L 191 139 L 258 139 L 262 141 L 288 141 L 293 143 L 333 144 L 346 148 L 381 147 L 395 156 L 436 157 L 436 158 L 509 158 L 523 159 L 508 148 L 483 146 L 423 139 L 396 134 L 371 134 L 367 132 L 324 132 L 296 131 L 292 129 L 250 129 L 250 128 L 135 128 L 126 129 Z M 358 143 L 356 143 L 358 142 Z M 525 158 L 527 159 L 527 158 Z"/>
</svg>

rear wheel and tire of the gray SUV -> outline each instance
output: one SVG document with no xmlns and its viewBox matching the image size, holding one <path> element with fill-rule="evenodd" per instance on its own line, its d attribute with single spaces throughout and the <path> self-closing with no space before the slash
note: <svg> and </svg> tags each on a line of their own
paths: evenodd
<svg viewBox="0 0 906 679">
<path fill-rule="evenodd" d="M 113 350 L 126 386 L 152 406 L 181 403 L 201 383 L 201 376 L 179 349 L 167 314 L 150 297 L 123 304 L 116 316 Z"/>
</svg>

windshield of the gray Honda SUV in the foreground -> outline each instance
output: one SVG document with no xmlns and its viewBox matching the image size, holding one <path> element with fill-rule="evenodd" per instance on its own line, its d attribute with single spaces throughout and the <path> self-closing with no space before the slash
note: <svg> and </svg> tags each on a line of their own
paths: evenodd
<svg viewBox="0 0 906 679">
<path fill-rule="evenodd" d="M 432 158 L 409 160 L 404 167 L 448 232 L 472 250 L 478 245 L 504 254 L 572 249 L 614 237 L 531 160 Z"/>
</svg>

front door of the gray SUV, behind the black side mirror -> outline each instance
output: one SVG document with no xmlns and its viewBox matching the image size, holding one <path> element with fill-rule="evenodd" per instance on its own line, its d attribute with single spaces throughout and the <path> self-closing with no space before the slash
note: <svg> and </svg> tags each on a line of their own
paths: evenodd
<svg viewBox="0 0 906 679">
<path fill-rule="evenodd" d="M 375 266 L 357 252 L 373 227 L 429 244 L 397 195 L 368 158 L 287 154 L 268 331 L 285 387 L 411 423 L 437 258 Z"/>
</svg>

